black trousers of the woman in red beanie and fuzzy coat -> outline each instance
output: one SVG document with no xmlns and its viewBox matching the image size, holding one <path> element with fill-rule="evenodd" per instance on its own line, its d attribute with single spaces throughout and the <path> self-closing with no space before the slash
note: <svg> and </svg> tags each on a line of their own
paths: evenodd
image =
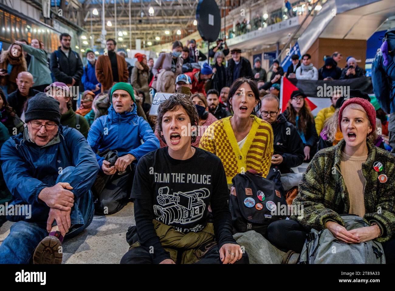
<svg viewBox="0 0 395 291">
<path fill-rule="evenodd" d="M 267 228 L 269 242 L 284 251 L 301 253 L 309 232 L 294 219 L 277 220 Z M 387 264 L 395 264 L 395 238 L 382 243 Z"/>
</svg>

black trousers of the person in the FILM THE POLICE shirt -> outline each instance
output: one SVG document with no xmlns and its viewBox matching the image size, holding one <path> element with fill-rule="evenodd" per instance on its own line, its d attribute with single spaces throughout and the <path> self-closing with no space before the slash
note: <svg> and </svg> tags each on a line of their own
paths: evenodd
<svg viewBox="0 0 395 291">
<path fill-rule="evenodd" d="M 250 261 L 248 259 L 247 253 L 243 253 L 243 257 L 235 264 L 248 264 Z M 122 257 L 121 264 L 152 264 L 152 258 L 149 251 L 142 247 L 130 249 Z M 206 255 L 200 259 L 196 264 L 222 264 L 220 259 L 220 253 L 218 251 L 218 246 L 211 248 L 207 251 Z"/>
</svg>

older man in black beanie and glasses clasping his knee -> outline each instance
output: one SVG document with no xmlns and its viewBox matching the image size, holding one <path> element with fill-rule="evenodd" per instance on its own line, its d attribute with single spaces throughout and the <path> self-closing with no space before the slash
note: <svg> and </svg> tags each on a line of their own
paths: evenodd
<svg viewBox="0 0 395 291">
<path fill-rule="evenodd" d="M 2 171 L 16 222 L 0 246 L 0 264 L 61 263 L 63 238 L 93 218 L 90 187 L 99 170 L 95 154 L 75 128 L 60 125 L 59 102 L 38 93 L 28 102 L 27 126 L 1 148 Z"/>
</svg>

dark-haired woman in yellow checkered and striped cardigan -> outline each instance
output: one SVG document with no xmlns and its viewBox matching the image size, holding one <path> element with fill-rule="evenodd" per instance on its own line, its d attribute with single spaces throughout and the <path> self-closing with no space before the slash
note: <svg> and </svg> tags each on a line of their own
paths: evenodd
<svg viewBox="0 0 395 291">
<path fill-rule="evenodd" d="M 261 106 L 255 81 L 239 78 L 229 89 L 232 115 L 207 128 L 199 147 L 217 155 L 224 165 L 228 185 L 238 173 L 253 169 L 266 177 L 273 155 L 273 129 L 253 115 Z"/>
</svg>

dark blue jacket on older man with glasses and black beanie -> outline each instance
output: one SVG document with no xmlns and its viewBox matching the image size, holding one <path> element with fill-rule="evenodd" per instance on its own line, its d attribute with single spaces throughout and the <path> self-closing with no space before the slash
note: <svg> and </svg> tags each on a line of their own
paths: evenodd
<svg viewBox="0 0 395 291">
<path fill-rule="evenodd" d="M 32 217 L 9 215 L 13 221 L 46 222 L 47 204 L 38 200 L 42 189 L 53 186 L 59 170 L 75 166 L 68 181 L 76 198 L 88 195 L 99 167 L 84 136 L 74 128 L 59 125 L 58 134 L 47 145 L 40 147 L 29 142 L 24 132 L 11 136 L 1 148 L 4 180 L 13 195 L 13 205 L 30 204 Z M 75 198 L 75 199 L 76 199 Z"/>
</svg>

